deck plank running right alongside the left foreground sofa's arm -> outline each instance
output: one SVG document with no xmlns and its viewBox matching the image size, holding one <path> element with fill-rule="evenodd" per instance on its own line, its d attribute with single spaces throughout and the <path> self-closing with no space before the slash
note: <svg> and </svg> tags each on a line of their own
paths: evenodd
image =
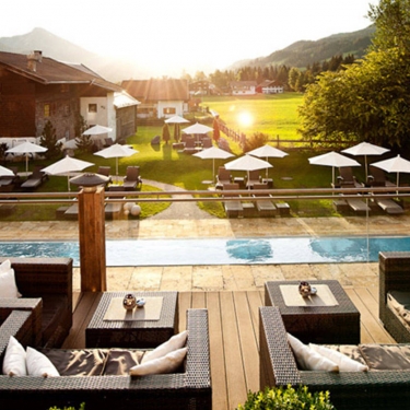
<svg viewBox="0 0 410 410">
<path fill-rule="evenodd" d="M 207 292 L 211 354 L 212 407 L 227 410 L 226 362 L 219 292 Z"/>
</svg>

